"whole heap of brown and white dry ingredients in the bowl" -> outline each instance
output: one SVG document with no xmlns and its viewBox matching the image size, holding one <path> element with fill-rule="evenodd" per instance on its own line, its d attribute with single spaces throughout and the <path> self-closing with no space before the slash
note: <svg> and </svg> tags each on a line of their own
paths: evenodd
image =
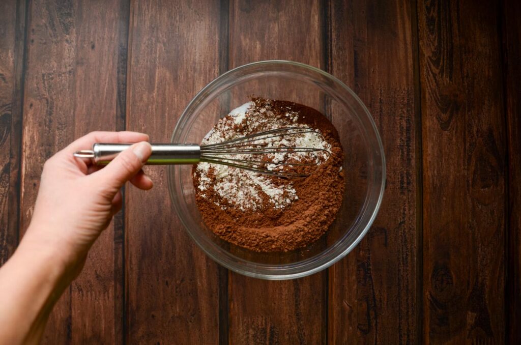
<svg viewBox="0 0 521 345">
<path fill-rule="evenodd" d="M 258 172 L 201 162 L 192 170 L 196 203 L 205 224 L 233 244 L 257 251 L 291 251 L 317 240 L 334 220 L 344 193 L 343 151 L 338 132 L 317 110 L 302 104 L 253 98 L 220 119 L 202 145 L 286 127 L 316 133 L 267 139 L 274 147 L 313 147 L 327 152 L 276 153 L 263 157 L 273 171 L 277 163 L 304 162 L 306 178 L 284 179 Z M 259 156 L 241 155 L 258 160 Z M 312 169 L 312 170 L 305 170 Z M 286 171 L 286 170 L 284 170 Z"/>
</svg>

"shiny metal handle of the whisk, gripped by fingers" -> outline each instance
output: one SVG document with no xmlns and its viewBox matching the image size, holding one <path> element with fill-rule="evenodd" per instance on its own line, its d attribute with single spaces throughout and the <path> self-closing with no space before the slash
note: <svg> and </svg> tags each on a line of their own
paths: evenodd
<svg viewBox="0 0 521 345">
<path fill-rule="evenodd" d="M 96 165 L 107 165 L 121 151 L 132 144 L 95 143 L 92 150 L 81 150 L 74 153 L 75 157 L 91 158 Z M 201 146 L 197 144 L 151 144 L 152 155 L 147 165 L 163 164 L 195 164 L 201 159 Z"/>
</svg>

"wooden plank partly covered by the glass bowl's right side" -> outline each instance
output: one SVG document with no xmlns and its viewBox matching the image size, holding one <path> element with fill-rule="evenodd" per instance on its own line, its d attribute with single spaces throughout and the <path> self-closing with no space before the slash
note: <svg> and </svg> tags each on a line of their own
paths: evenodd
<svg viewBox="0 0 521 345">
<path fill-rule="evenodd" d="M 410 3 L 331 1 L 327 13 L 327 69 L 367 105 L 387 161 L 386 191 L 373 227 L 353 252 L 329 269 L 328 339 L 333 344 L 417 343 L 419 114 Z"/>
</svg>

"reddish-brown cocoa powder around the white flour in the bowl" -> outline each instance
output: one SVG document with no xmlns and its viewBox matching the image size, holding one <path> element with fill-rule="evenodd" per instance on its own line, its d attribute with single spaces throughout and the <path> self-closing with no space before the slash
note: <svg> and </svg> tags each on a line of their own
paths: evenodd
<svg viewBox="0 0 521 345">
<path fill-rule="evenodd" d="M 263 116 L 282 118 L 297 114 L 296 122 L 318 130 L 330 144 L 330 156 L 306 178 L 283 179 L 269 176 L 275 186 L 292 187 L 297 195 L 285 207 L 275 207 L 266 194 L 255 210 L 241 210 L 220 196 L 213 188 L 201 190 L 201 172 L 193 167 L 196 204 L 202 218 L 222 239 L 257 252 L 292 251 L 305 247 L 320 238 L 331 225 L 342 203 L 344 172 L 341 169 L 343 150 L 337 130 L 317 110 L 287 101 L 269 101 L 253 98 L 256 108 L 268 109 Z M 230 115 L 221 121 L 230 121 Z M 254 130 L 266 130 L 255 128 Z M 251 133 L 244 124 L 233 126 L 233 131 Z M 209 186 L 216 176 L 209 171 Z M 240 186 L 238 186 L 240 188 Z"/>
</svg>

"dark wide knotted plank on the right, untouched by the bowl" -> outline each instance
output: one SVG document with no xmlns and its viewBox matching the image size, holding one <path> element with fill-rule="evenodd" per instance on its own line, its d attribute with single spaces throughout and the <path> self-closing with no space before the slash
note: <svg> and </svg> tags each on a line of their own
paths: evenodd
<svg viewBox="0 0 521 345">
<path fill-rule="evenodd" d="M 418 2 L 424 341 L 505 340 L 505 128 L 493 2 Z"/>
</svg>

